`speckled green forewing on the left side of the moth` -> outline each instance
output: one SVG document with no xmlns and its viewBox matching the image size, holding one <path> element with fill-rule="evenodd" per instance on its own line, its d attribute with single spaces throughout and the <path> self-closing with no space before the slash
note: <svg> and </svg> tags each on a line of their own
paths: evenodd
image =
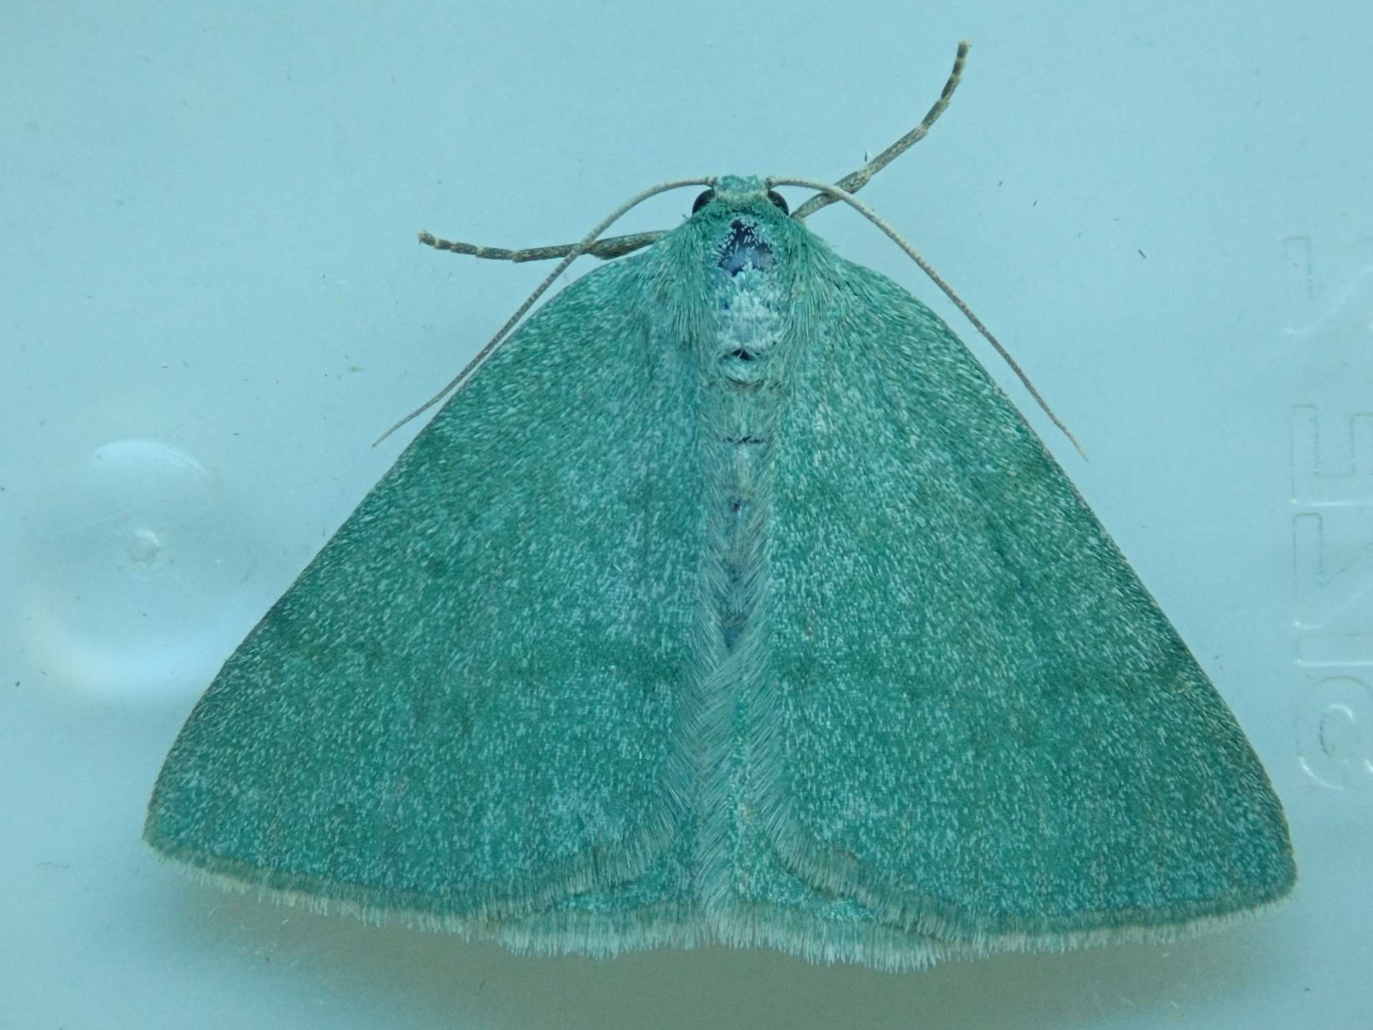
<svg viewBox="0 0 1373 1030">
<path fill-rule="evenodd" d="M 439 922 L 660 851 L 702 527 L 695 378 L 647 346 L 651 265 L 564 290 L 420 433 L 192 711 L 154 847 Z"/>
</svg>

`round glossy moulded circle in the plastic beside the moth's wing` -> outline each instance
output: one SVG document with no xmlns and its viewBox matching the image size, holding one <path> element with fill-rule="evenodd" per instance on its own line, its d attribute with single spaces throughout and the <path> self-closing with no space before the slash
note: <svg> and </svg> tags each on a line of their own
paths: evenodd
<svg viewBox="0 0 1373 1030">
<path fill-rule="evenodd" d="M 203 688 L 238 632 L 225 610 L 257 536 L 216 474 L 159 441 L 115 441 L 74 464 L 27 525 L 26 644 L 54 683 L 139 698 Z"/>
</svg>

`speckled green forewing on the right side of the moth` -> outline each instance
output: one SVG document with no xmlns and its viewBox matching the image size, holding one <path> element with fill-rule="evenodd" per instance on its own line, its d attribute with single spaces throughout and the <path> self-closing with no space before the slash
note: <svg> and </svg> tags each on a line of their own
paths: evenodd
<svg viewBox="0 0 1373 1030">
<path fill-rule="evenodd" d="M 1019 413 L 894 283 L 839 261 L 825 288 L 773 488 L 787 864 L 954 950 L 1285 894 L 1262 766 Z"/>
</svg>

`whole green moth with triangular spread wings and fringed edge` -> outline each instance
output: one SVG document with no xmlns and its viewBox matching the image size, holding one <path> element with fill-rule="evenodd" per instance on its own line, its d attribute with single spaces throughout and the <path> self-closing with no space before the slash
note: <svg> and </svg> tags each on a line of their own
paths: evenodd
<svg viewBox="0 0 1373 1030">
<path fill-rule="evenodd" d="M 800 220 L 883 158 L 557 250 L 647 242 L 483 352 L 233 652 L 152 847 L 518 950 L 886 970 L 1287 894 L 1263 768 L 1065 474 Z"/>
</svg>

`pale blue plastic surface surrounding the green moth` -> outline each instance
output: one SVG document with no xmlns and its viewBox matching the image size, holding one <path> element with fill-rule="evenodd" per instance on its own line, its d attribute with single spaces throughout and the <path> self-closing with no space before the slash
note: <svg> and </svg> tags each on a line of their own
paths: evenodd
<svg viewBox="0 0 1373 1030">
<path fill-rule="evenodd" d="M 844 7 L 4 4 L 0 1026 L 1365 1025 L 1369 7 Z M 523 959 L 161 867 L 141 813 L 189 706 L 408 434 L 369 441 L 544 275 L 415 232 L 553 243 L 663 179 L 838 177 L 962 36 L 953 107 L 864 196 L 1083 442 L 1048 434 L 1270 769 L 1296 900 L 890 976 Z M 859 218 L 810 225 L 987 357 Z"/>
</svg>

